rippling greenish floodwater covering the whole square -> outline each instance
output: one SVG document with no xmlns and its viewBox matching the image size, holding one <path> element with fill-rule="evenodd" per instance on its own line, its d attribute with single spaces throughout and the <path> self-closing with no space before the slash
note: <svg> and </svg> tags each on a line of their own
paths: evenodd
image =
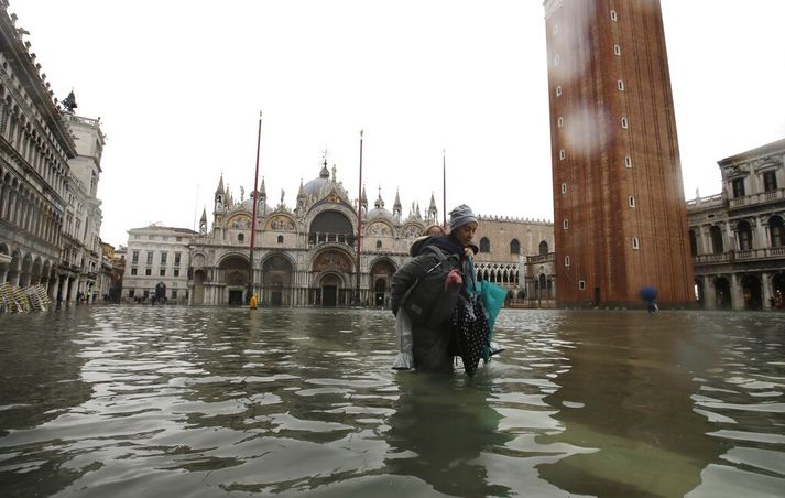
<svg viewBox="0 0 785 498">
<path fill-rule="evenodd" d="M 0 315 L 0 495 L 785 494 L 785 313 L 509 311 L 473 379 L 390 312 Z"/>
</svg>

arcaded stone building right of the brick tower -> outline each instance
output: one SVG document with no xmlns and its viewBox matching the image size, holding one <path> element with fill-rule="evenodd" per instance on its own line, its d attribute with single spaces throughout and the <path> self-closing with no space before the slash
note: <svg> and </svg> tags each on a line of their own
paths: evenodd
<svg viewBox="0 0 785 498">
<path fill-rule="evenodd" d="M 785 140 L 718 162 L 722 193 L 687 203 L 696 292 L 708 308 L 782 308 Z"/>
</svg>

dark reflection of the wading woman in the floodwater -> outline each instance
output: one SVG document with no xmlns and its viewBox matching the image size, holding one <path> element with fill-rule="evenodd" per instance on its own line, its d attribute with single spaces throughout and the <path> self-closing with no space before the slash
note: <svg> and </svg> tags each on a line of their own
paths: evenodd
<svg viewBox="0 0 785 498">
<path fill-rule="evenodd" d="M 478 379 L 476 379 L 478 380 Z M 511 436 L 498 431 L 501 416 L 488 403 L 489 388 L 458 376 L 403 374 L 390 420 L 391 474 L 417 477 L 451 496 L 504 496 L 488 483 L 480 455 Z"/>
</svg>

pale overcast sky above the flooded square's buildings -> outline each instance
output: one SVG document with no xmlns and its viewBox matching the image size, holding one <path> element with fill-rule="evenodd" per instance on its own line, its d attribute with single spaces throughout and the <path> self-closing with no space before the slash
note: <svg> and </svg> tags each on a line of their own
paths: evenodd
<svg viewBox="0 0 785 498">
<path fill-rule="evenodd" d="M 717 161 L 785 138 L 785 2 L 662 0 L 685 195 Z M 11 0 L 42 72 L 108 136 L 101 237 L 193 228 L 223 172 L 270 204 L 316 177 L 369 202 L 553 219 L 542 0 Z"/>
</svg>

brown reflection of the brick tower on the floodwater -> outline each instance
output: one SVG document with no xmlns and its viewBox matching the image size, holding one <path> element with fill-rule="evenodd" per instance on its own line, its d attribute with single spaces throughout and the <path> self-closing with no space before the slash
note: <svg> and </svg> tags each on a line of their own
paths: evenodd
<svg viewBox="0 0 785 498">
<path fill-rule="evenodd" d="M 699 343 L 697 329 L 674 332 L 684 321 L 647 318 L 584 314 L 579 335 L 564 328 L 579 346 L 564 350 L 571 369 L 545 398 L 560 410 L 554 418 L 564 431 L 537 442 L 597 451 L 537 466 L 555 486 L 578 495 L 684 496 L 721 453 L 691 399 L 699 390 L 694 372 L 706 368 L 713 347 Z"/>
</svg>

